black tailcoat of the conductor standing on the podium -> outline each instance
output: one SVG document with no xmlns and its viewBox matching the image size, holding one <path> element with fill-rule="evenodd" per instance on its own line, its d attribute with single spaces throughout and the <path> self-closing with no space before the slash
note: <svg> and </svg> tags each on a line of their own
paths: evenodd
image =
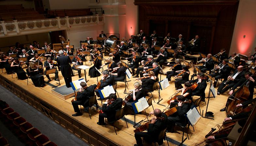
<svg viewBox="0 0 256 146">
<path fill-rule="evenodd" d="M 57 63 L 60 66 L 62 76 L 64 78 L 71 78 L 71 66 L 69 63 L 72 62 L 69 56 L 61 55 L 57 58 Z"/>
</svg>

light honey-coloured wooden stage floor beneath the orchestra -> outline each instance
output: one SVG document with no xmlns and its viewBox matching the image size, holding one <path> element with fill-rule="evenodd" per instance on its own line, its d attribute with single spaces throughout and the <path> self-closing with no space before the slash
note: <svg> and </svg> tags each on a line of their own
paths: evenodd
<svg viewBox="0 0 256 146">
<path fill-rule="evenodd" d="M 107 56 L 104 56 L 104 58 L 107 58 Z M 87 64 L 89 64 L 89 63 L 87 62 Z M 103 61 L 103 64 L 104 64 L 104 61 Z M 105 68 L 106 68 L 106 66 L 104 67 L 104 69 Z M 164 68 L 164 72 L 166 73 L 167 71 L 169 71 L 169 68 Z M 190 73 L 190 76 L 191 76 L 193 74 L 192 68 L 190 68 L 190 71 L 191 71 L 191 73 Z M 11 82 L 12 84 L 19 86 L 20 88 L 23 88 L 24 90 L 26 90 L 30 94 L 34 95 L 41 101 L 51 105 L 52 107 L 54 107 L 55 109 L 57 109 L 59 111 L 61 111 L 69 119 L 72 119 L 72 120 L 76 121 L 77 123 L 89 128 L 90 130 L 94 131 L 98 135 L 101 135 L 102 137 L 112 141 L 114 144 L 124 145 L 124 146 L 133 146 L 136 143 L 136 140 L 134 137 L 134 132 L 133 132 L 133 130 L 135 129 L 133 127 L 134 115 L 126 115 L 125 116 L 127 119 L 129 119 L 128 120 L 129 128 L 126 127 L 124 120 L 119 120 L 118 122 L 115 123 L 115 125 L 118 127 L 118 129 L 117 129 L 118 135 L 115 134 L 115 130 L 114 130 L 113 126 L 107 125 L 107 127 L 105 127 L 105 126 L 99 126 L 96 124 L 98 122 L 98 116 L 99 116 L 98 111 L 95 111 L 95 110 L 90 111 L 90 114 L 92 115 L 91 116 L 92 119 L 90 119 L 88 113 L 85 113 L 85 112 L 83 112 L 82 116 L 73 117 L 72 114 L 74 114 L 74 110 L 73 110 L 73 107 L 71 104 L 72 98 L 67 99 L 67 100 L 62 100 L 52 94 L 52 91 L 51 91 L 52 86 L 56 85 L 56 81 L 54 81 L 54 74 L 50 74 L 52 81 L 50 82 L 50 84 L 47 84 L 45 87 L 35 87 L 31 81 L 31 79 L 28 79 L 28 85 L 27 85 L 27 80 L 18 80 L 16 74 L 13 74 L 13 78 L 12 78 L 11 74 L 7 75 L 5 73 L 4 69 L 3 69 L 3 73 L 0 73 L 0 74 L 4 79 L 8 80 L 6 82 Z M 82 78 L 84 78 L 84 77 L 85 77 L 84 72 L 82 71 Z M 166 75 L 164 75 L 164 74 L 161 75 L 161 79 L 164 79 L 165 77 L 166 77 Z M 59 72 L 59 78 L 60 78 L 61 86 L 65 85 L 64 79 L 60 72 Z M 159 75 L 159 78 L 160 78 L 160 75 Z M 76 73 L 75 76 L 72 77 L 72 80 L 74 81 L 77 79 L 79 79 L 79 78 L 78 78 L 78 74 Z M 99 79 L 100 79 L 100 77 L 99 77 Z M 134 79 L 135 78 L 131 78 L 131 79 L 127 78 L 127 80 L 131 80 L 131 82 L 128 82 L 129 90 L 133 89 L 133 87 L 134 87 L 133 84 L 134 84 L 134 82 L 136 82 L 136 81 L 134 81 Z M 47 81 L 47 80 L 48 79 L 45 77 L 45 81 Z M 97 78 L 89 78 L 88 75 L 87 75 L 87 80 L 89 80 L 88 85 L 97 83 Z M 205 90 L 206 96 L 208 95 L 210 83 L 207 83 L 207 84 L 208 85 Z M 123 93 L 124 88 L 125 88 L 125 84 L 118 82 L 117 92 L 118 92 L 120 98 L 123 98 L 126 95 Z M 175 88 L 174 87 L 174 79 L 172 78 L 172 81 L 170 82 L 170 86 L 164 90 L 161 90 L 161 92 L 160 92 L 160 95 L 163 99 L 160 102 L 160 104 L 167 105 L 166 101 L 169 100 L 168 98 L 174 92 L 176 92 L 176 90 L 174 88 Z M 217 87 L 216 87 L 216 89 L 217 89 Z M 9 90 L 12 90 L 12 89 L 9 89 Z M 158 101 L 158 92 L 157 91 L 153 92 L 153 96 L 154 96 L 154 100 L 155 100 L 155 102 L 152 101 L 154 109 L 158 108 L 161 111 L 163 109 L 165 109 L 164 106 L 156 104 L 156 102 Z M 225 106 L 227 97 L 228 97 L 228 92 L 226 92 L 224 95 L 218 95 L 216 98 L 210 99 L 208 111 L 211 111 L 214 113 L 214 120 L 201 117 L 199 122 L 194 126 L 195 131 L 193 131 L 193 128 L 190 126 L 190 129 L 188 131 L 189 140 L 187 139 L 184 142 L 185 145 L 195 145 L 196 143 L 203 141 L 204 136 L 211 130 L 212 127 L 214 127 L 218 123 L 223 122 L 224 118 L 226 117 L 226 113 L 220 112 L 219 110 Z M 194 98 L 198 98 L 198 97 L 194 97 Z M 99 105 L 101 106 L 101 101 L 100 100 L 97 100 L 97 101 L 98 101 Z M 207 103 L 207 100 L 206 100 L 206 103 Z M 202 112 L 202 110 L 203 111 L 206 110 L 206 105 L 204 102 L 200 102 L 200 109 L 201 109 L 201 112 Z M 149 107 L 146 110 L 147 113 L 149 113 L 151 111 L 153 111 L 152 107 Z M 198 108 L 198 111 L 199 111 L 199 108 Z M 145 119 L 145 117 L 146 117 L 145 113 L 142 112 L 142 114 L 139 114 L 136 116 L 136 122 Z M 56 123 L 58 123 L 58 122 L 56 122 Z M 58 123 L 58 124 L 61 125 L 61 123 Z M 65 127 L 66 129 L 69 130 L 69 128 L 67 128 L 67 126 L 63 126 L 63 127 Z M 169 145 L 179 145 L 180 144 L 180 141 L 182 139 L 182 129 L 175 128 L 175 130 L 177 130 L 177 131 L 174 133 L 167 133 L 167 137 L 169 139 L 168 140 Z M 96 145 L 96 144 L 93 144 L 92 141 L 88 141 L 88 140 L 84 139 L 83 137 L 79 136 L 78 134 L 76 134 L 75 132 L 72 132 L 72 130 L 69 130 L 69 131 L 71 131 L 71 133 L 73 133 L 77 137 L 81 138 L 82 140 L 86 141 L 87 143 L 89 143 L 91 145 Z M 185 137 L 186 137 L 186 134 L 184 134 L 184 138 Z M 108 144 L 102 143 L 100 145 L 108 145 Z M 144 145 L 146 145 L 146 144 L 144 143 Z M 166 141 L 164 142 L 164 145 L 165 146 L 167 145 Z"/>
</svg>

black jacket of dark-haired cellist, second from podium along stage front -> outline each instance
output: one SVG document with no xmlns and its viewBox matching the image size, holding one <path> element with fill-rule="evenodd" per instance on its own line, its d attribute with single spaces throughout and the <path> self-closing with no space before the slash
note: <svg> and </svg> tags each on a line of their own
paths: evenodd
<svg viewBox="0 0 256 146">
<path fill-rule="evenodd" d="M 104 112 L 107 115 L 107 121 L 113 122 L 115 120 L 116 111 L 121 109 L 122 107 L 123 99 L 117 98 L 112 104 L 103 104 L 102 106 L 102 112 Z"/>
</svg>

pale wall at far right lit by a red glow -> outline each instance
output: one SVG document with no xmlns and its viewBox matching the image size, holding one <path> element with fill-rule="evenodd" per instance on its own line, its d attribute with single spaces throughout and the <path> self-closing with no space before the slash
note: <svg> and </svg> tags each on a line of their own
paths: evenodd
<svg viewBox="0 0 256 146">
<path fill-rule="evenodd" d="M 236 15 L 235 27 L 230 52 L 248 55 L 256 47 L 256 1 L 240 0 Z M 245 35 L 245 37 L 244 37 Z"/>
</svg>

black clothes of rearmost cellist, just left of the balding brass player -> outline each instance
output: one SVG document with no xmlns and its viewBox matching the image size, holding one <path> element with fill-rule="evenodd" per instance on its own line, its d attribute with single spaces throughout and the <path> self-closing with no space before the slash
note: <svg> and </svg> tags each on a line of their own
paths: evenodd
<svg viewBox="0 0 256 146">
<path fill-rule="evenodd" d="M 194 95 L 200 96 L 201 100 L 204 100 L 205 99 L 205 89 L 207 87 L 206 80 L 202 79 L 201 83 L 199 83 L 198 79 L 190 80 L 188 82 L 191 83 L 191 84 L 193 84 L 193 83 L 197 83 L 198 84 L 198 86 L 193 90 L 192 96 L 194 96 Z"/>
</svg>

